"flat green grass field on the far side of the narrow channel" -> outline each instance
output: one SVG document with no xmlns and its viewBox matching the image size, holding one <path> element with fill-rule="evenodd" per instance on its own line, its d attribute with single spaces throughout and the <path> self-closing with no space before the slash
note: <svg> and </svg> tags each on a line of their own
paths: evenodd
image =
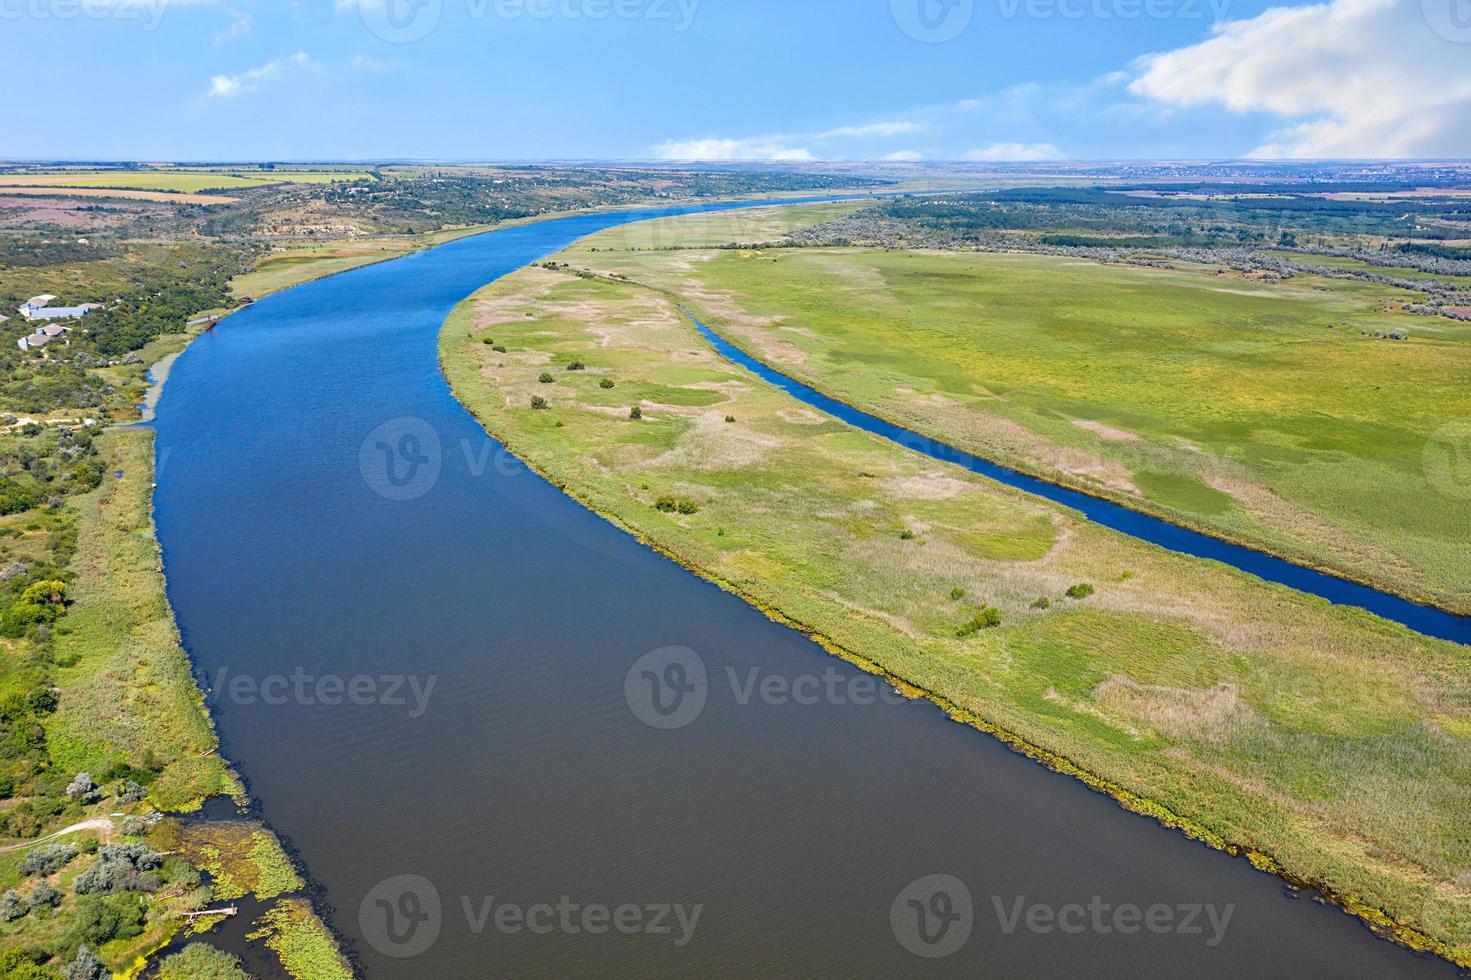
<svg viewBox="0 0 1471 980">
<path fill-rule="evenodd" d="M 678 222 L 643 234 L 733 240 L 719 218 L 683 240 Z M 1387 287 L 1037 255 L 572 255 L 678 294 L 769 363 L 928 436 L 1471 609 L 1471 508 L 1434 455 L 1437 433 L 1471 418 L 1471 325 L 1387 312 Z M 1372 335 L 1396 330 L 1409 340 Z"/>
</svg>

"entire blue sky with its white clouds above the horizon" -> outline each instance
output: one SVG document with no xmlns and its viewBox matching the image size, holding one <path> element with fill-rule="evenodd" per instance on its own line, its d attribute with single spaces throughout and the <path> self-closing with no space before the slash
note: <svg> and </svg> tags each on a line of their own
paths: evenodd
<svg viewBox="0 0 1471 980">
<path fill-rule="evenodd" d="M 1471 0 L 0 0 L 0 25 L 4 157 L 1471 156 Z"/>
</svg>

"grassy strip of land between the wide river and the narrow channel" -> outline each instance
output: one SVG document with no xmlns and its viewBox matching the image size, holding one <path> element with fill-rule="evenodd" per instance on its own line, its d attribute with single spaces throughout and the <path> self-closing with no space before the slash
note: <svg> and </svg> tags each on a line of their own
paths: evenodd
<svg viewBox="0 0 1471 980">
<path fill-rule="evenodd" d="M 824 418 L 716 358 L 668 293 L 612 278 L 650 258 L 690 277 L 709 258 L 628 250 L 666 235 L 603 232 L 452 315 L 446 374 L 494 436 L 849 659 L 1471 961 L 1462 647 L 1122 539 Z M 1091 594 L 1068 596 L 1083 584 Z"/>
</svg>

